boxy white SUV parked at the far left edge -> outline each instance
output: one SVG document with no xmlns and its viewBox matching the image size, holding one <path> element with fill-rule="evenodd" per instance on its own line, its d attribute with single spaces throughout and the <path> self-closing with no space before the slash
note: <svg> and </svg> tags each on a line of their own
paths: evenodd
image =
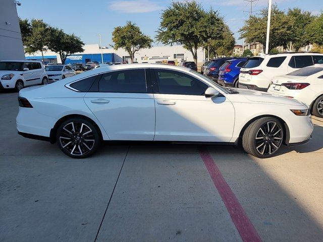
<svg viewBox="0 0 323 242">
<path fill-rule="evenodd" d="M 26 86 L 47 83 L 40 61 L 0 61 L 0 88 L 15 88 L 19 92 Z"/>
</svg>

